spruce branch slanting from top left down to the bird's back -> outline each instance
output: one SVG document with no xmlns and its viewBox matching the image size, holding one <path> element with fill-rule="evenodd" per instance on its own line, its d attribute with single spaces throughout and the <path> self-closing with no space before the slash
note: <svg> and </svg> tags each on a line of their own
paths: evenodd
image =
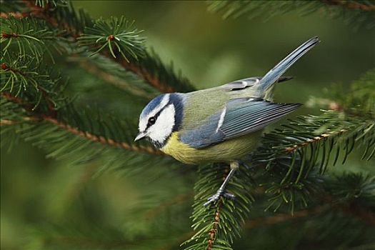
<svg viewBox="0 0 375 250">
<path fill-rule="evenodd" d="M 66 31 L 66 36 L 77 39 L 79 44 L 96 47 L 91 54 L 100 51 L 104 56 L 108 56 L 110 53 L 111 56 L 116 57 L 118 64 L 140 76 L 159 91 L 193 91 L 195 89 L 188 79 L 181 76 L 181 72 L 174 71 L 173 64 L 166 66 L 154 51 L 144 50 L 144 39 L 139 36 L 141 31 L 134 28 L 133 23 L 126 21 L 124 17 L 112 18 L 109 21 L 99 19 L 94 22 L 84 10 L 75 11 L 70 2 L 66 6 L 49 10 L 47 15 L 44 14 L 42 17 L 46 17 L 53 22 L 54 26 Z M 117 35 L 117 39 L 109 39 L 110 35 L 114 37 Z M 104 51 L 104 48 L 107 48 L 109 53 Z M 91 48 L 84 47 L 83 49 Z M 119 53 L 121 56 L 116 56 Z M 129 56 L 137 60 L 128 61 Z"/>
</svg>

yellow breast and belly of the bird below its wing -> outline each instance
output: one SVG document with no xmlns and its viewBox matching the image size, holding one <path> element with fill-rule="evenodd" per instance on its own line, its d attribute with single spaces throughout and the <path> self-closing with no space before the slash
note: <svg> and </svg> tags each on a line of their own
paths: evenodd
<svg viewBox="0 0 375 250">
<path fill-rule="evenodd" d="M 261 133 L 256 131 L 203 149 L 194 149 L 179 140 L 179 132 L 174 132 L 160 150 L 185 164 L 239 160 L 256 149 Z"/>
</svg>

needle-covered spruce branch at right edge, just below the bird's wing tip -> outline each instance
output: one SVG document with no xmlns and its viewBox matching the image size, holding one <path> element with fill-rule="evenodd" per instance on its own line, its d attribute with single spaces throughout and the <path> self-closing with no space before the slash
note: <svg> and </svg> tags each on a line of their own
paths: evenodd
<svg viewBox="0 0 375 250">
<path fill-rule="evenodd" d="M 268 161 L 267 167 L 272 167 L 277 156 L 291 152 L 290 169 L 294 168 L 295 159 L 301 156 L 302 170 L 304 167 L 311 169 L 319 163 L 319 169 L 323 173 L 329 164 L 336 164 L 341 152 L 344 153 L 344 164 L 354 145 L 364 147 L 363 159 L 371 159 L 374 156 L 374 125 L 373 120 L 334 111 L 325 111 L 323 116 L 302 116 L 290 121 L 284 128 L 266 134 L 263 146 L 254 154 L 257 158 Z M 276 140 L 279 143 L 272 143 Z M 296 176 L 295 181 L 298 182 L 301 177 Z M 288 176 L 284 181 L 290 178 Z"/>
</svg>

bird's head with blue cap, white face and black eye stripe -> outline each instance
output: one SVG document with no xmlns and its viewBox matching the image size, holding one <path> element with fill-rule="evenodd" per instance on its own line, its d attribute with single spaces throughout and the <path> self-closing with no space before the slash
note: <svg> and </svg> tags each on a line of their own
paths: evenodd
<svg viewBox="0 0 375 250">
<path fill-rule="evenodd" d="M 139 134 L 135 141 L 149 139 L 157 148 L 166 144 L 179 129 L 182 120 L 182 94 L 161 94 L 147 104 L 139 116 Z"/>
</svg>

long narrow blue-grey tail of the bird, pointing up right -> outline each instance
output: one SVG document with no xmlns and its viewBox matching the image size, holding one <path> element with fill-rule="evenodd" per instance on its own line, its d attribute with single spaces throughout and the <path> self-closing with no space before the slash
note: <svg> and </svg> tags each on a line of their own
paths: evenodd
<svg viewBox="0 0 375 250">
<path fill-rule="evenodd" d="M 297 49 L 295 49 L 291 54 L 286 56 L 282 61 L 279 62 L 276 66 L 274 66 L 274 69 L 271 69 L 267 72 L 266 75 L 263 76 L 263 78 L 259 81 L 257 84 L 259 86 L 259 91 L 261 93 L 264 93 L 267 89 L 269 89 L 272 84 L 276 82 L 279 77 L 284 74 L 284 72 L 290 68 L 291 65 L 293 65 L 301 56 L 306 54 L 307 51 L 312 49 L 316 44 L 319 43 L 318 36 L 314 36 L 313 38 L 306 41 L 304 44 L 299 46 Z"/>
</svg>

